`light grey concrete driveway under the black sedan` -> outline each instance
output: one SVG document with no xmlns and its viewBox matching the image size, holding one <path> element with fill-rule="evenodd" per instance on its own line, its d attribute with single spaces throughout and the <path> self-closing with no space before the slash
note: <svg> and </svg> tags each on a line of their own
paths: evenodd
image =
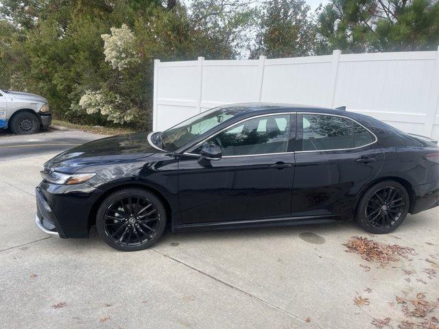
<svg viewBox="0 0 439 329">
<path fill-rule="evenodd" d="M 64 240 L 36 228 L 34 186 L 51 156 L 0 149 L 3 328 L 398 328 L 407 317 L 396 296 L 439 297 L 439 274 L 425 272 L 439 272 L 439 208 L 384 236 L 353 223 L 167 233 L 123 253 L 95 232 Z M 345 252 L 354 235 L 418 254 L 380 267 Z M 355 305 L 360 295 L 368 305 Z"/>
</svg>

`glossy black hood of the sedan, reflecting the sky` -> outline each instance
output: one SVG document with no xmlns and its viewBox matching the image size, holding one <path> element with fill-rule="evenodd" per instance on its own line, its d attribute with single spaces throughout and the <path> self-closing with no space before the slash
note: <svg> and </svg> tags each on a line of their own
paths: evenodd
<svg viewBox="0 0 439 329">
<path fill-rule="evenodd" d="M 152 147 L 147 132 L 136 132 L 98 139 L 58 154 L 44 164 L 45 171 L 73 173 L 95 164 L 113 164 L 165 153 Z"/>
</svg>

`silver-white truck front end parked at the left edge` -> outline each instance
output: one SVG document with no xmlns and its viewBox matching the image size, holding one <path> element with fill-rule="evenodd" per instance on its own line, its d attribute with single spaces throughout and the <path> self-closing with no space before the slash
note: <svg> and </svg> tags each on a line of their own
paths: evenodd
<svg viewBox="0 0 439 329">
<path fill-rule="evenodd" d="M 42 96 L 0 89 L 0 129 L 14 134 L 34 134 L 51 125 L 47 99 Z"/>
</svg>

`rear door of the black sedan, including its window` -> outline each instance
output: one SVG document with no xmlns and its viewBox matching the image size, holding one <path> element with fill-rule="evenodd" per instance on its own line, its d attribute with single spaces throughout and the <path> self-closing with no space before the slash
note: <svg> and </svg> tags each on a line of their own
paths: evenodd
<svg viewBox="0 0 439 329">
<path fill-rule="evenodd" d="M 349 214 L 383 163 L 377 138 L 347 117 L 298 113 L 292 215 Z"/>
</svg>

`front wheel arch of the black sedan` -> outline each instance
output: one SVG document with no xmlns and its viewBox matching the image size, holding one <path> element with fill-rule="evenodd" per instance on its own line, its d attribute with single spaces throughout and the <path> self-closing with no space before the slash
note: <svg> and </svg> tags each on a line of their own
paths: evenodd
<svg viewBox="0 0 439 329">
<path fill-rule="evenodd" d="M 110 195 L 111 193 L 121 190 L 122 188 L 143 188 L 145 191 L 149 191 L 150 193 L 154 193 L 158 199 L 163 202 L 163 206 L 165 206 L 166 215 L 168 218 L 168 221 L 166 223 L 166 228 L 171 228 L 173 226 L 174 222 L 174 208 L 171 206 L 171 202 L 169 202 L 169 199 L 165 197 L 164 193 L 161 191 L 158 191 L 157 188 L 154 188 L 154 186 L 147 184 L 145 182 L 123 182 L 121 184 L 117 184 L 115 186 L 111 186 L 110 188 L 106 189 L 104 193 L 93 203 L 93 206 L 91 206 L 91 210 L 88 214 L 88 220 L 87 220 L 87 228 L 88 232 L 90 231 L 91 226 L 95 225 L 96 223 L 96 215 L 97 210 L 99 209 L 100 204 L 104 199 Z"/>
</svg>

